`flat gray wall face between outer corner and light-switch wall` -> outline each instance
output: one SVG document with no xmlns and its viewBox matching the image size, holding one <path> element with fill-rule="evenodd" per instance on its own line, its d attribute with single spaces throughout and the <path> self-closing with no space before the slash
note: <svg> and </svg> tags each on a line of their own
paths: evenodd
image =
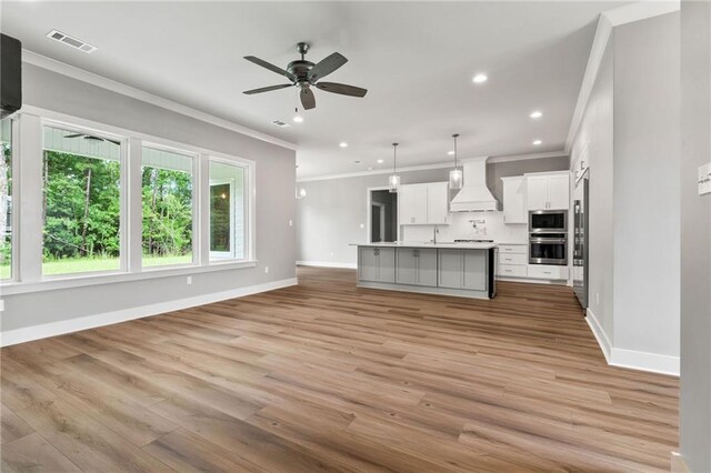
<svg viewBox="0 0 711 473">
<path fill-rule="evenodd" d="M 614 345 L 679 356 L 679 13 L 614 29 Z"/>
</svg>

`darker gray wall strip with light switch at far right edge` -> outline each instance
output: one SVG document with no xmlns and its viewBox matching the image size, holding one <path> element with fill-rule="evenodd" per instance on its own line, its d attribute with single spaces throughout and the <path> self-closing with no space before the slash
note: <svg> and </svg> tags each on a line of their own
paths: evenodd
<svg viewBox="0 0 711 473">
<path fill-rule="evenodd" d="M 681 2 L 681 455 L 711 471 L 711 3 Z"/>
</svg>

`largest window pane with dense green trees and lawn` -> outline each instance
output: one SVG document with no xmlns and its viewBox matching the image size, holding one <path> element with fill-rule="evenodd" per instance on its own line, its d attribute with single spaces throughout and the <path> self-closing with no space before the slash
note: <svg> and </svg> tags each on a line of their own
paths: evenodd
<svg viewBox="0 0 711 473">
<path fill-rule="evenodd" d="M 42 274 L 120 269 L 121 145 L 43 128 Z"/>
</svg>

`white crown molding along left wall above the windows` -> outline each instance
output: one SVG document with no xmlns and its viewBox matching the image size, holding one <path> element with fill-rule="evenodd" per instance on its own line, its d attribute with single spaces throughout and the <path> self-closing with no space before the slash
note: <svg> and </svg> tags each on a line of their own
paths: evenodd
<svg viewBox="0 0 711 473">
<path fill-rule="evenodd" d="M 172 100 L 164 99 L 159 95 L 154 95 L 152 93 L 137 89 L 134 87 L 114 81 L 113 79 L 109 79 L 103 76 L 99 76 L 93 72 L 79 69 L 74 66 L 70 66 L 64 62 L 57 61 L 54 59 L 48 58 L 42 54 L 38 54 L 37 52 L 33 52 L 27 49 L 22 49 L 22 62 L 37 66 L 38 68 L 50 70 L 52 72 L 57 72 L 59 74 L 67 76 L 72 79 L 77 79 L 82 82 L 87 82 L 92 85 L 97 85 L 102 89 L 107 89 L 112 92 L 120 93 L 122 95 L 127 95 L 132 99 L 137 99 L 142 102 L 147 102 L 166 110 L 170 110 L 171 112 L 180 113 L 180 114 L 193 118 L 196 120 L 200 120 L 206 123 L 213 124 L 216 127 L 224 128 L 227 130 L 234 131 L 234 132 L 244 134 L 247 137 L 254 138 L 260 141 L 266 141 L 268 143 L 287 148 L 290 150 L 297 149 L 297 144 L 291 143 L 289 141 L 284 141 L 282 139 L 272 137 L 270 134 L 262 133 L 261 131 L 252 130 L 251 128 L 247 128 L 244 125 L 231 122 L 229 120 L 221 119 L 219 117 L 214 117 L 210 113 L 206 113 L 203 111 L 196 110 L 188 105 L 183 105 L 182 103 L 178 103 Z"/>
</svg>

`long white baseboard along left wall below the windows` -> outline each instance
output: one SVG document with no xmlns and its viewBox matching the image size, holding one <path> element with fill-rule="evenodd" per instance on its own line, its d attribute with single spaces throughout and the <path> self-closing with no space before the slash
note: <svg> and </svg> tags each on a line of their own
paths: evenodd
<svg viewBox="0 0 711 473">
<path fill-rule="evenodd" d="M 164 312 L 179 311 L 194 308 L 197 305 L 210 304 L 212 302 L 228 299 L 242 298 L 259 292 L 272 291 L 274 289 L 288 288 L 298 284 L 296 278 L 280 281 L 267 282 L 263 284 L 238 288 L 230 291 L 214 292 L 211 294 L 197 295 L 193 298 L 178 299 L 174 301 L 159 302 L 151 305 L 123 309 L 120 311 L 104 312 L 96 315 L 87 315 L 77 319 L 62 320 L 43 323 L 41 325 L 26 326 L 22 329 L 9 330 L 0 333 L 0 346 L 9 346 L 18 343 L 30 342 L 32 340 L 47 339 L 48 336 L 62 335 L 64 333 L 78 332 L 80 330 L 94 329 L 97 326 L 111 325 L 113 323 L 126 322 L 144 316 L 157 315 Z"/>
</svg>

